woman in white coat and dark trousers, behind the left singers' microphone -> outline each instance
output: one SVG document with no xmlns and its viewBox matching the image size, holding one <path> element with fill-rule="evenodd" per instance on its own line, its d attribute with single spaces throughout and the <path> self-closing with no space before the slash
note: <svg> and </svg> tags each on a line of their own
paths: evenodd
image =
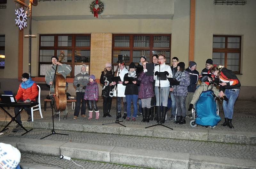
<svg viewBox="0 0 256 169">
<path fill-rule="evenodd" d="M 120 69 L 120 71 L 119 71 Z M 118 74 L 119 72 L 119 74 Z M 125 99 L 125 95 L 124 95 L 124 91 L 125 91 L 125 87 L 123 85 L 123 81 L 124 81 L 124 75 L 128 73 L 128 70 L 126 69 L 124 63 L 122 62 L 122 64 L 120 65 L 120 63 L 118 64 L 118 67 L 116 69 L 116 72 L 115 72 L 115 76 L 120 76 L 120 79 L 121 81 L 118 81 L 118 84 L 117 84 L 117 118 L 120 118 L 122 117 L 122 114 L 121 114 L 121 97 L 123 97 L 123 103 L 124 103 L 124 116 L 123 118 L 125 119 L 126 118 L 126 107 L 127 107 L 127 104 L 126 104 L 126 99 Z M 116 82 L 112 82 L 112 85 L 116 85 Z M 114 88 L 114 91 L 113 91 L 113 96 L 116 97 L 116 87 Z"/>
</svg>

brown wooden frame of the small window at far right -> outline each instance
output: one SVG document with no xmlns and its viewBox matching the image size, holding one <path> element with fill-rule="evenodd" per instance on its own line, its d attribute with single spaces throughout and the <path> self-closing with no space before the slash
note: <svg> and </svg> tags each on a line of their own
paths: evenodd
<svg viewBox="0 0 256 169">
<path fill-rule="evenodd" d="M 213 48 L 212 45 L 212 53 L 214 52 L 220 52 L 220 53 L 225 53 L 225 61 L 224 65 L 227 67 L 227 60 L 228 60 L 228 53 L 239 53 L 239 71 L 233 71 L 235 74 L 241 74 L 241 46 L 242 46 L 242 36 L 240 35 L 213 35 L 212 36 L 212 44 L 213 44 L 213 38 L 214 37 L 225 37 L 225 48 Z M 236 37 L 240 38 L 239 41 L 239 48 L 228 48 L 228 37 Z M 213 59 L 213 58 L 212 58 Z"/>
</svg>

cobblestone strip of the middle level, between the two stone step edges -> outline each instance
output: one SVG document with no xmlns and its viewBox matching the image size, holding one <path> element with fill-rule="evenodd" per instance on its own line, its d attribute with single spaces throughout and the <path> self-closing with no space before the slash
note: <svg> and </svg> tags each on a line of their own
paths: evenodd
<svg viewBox="0 0 256 169">
<path fill-rule="evenodd" d="M 158 151 L 171 151 L 171 152 L 184 152 L 191 155 L 206 155 L 216 157 L 229 157 L 234 159 L 252 159 L 256 160 L 256 146 L 252 145 L 239 145 L 239 144 L 224 144 L 203 141 L 188 141 L 188 140 L 174 140 L 168 138 L 153 138 L 153 137 L 138 137 L 116 134 L 103 134 L 103 133 L 89 133 L 89 132 L 76 132 L 58 130 L 56 132 L 64 135 L 52 135 L 44 139 L 58 140 L 58 141 L 72 141 L 76 143 L 87 143 L 95 145 L 108 145 L 125 148 L 158 150 Z M 48 134 L 50 130 L 34 129 L 29 133 L 21 136 L 22 130 L 16 133 L 10 131 L 4 133 L 4 136 L 15 136 L 23 138 L 39 139 Z M 130 134 L 130 133 L 127 133 Z"/>
</svg>

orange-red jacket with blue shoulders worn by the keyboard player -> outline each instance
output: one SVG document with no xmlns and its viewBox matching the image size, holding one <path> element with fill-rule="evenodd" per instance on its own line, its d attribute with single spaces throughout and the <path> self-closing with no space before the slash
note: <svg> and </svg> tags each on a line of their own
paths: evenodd
<svg viewBox="0 0 256 169">
<path fill-rule="evenodd" d="M 24 83 L 24 82 L 22 82 Z M 36 96 L 38 95 L 38 89 L 34 81 L 28 80 L 24 84 L 20 83 L 19 90 L 15 99 L 25 101 L 30 99 L 30 101 L 36 101 Z"/>
</svg>

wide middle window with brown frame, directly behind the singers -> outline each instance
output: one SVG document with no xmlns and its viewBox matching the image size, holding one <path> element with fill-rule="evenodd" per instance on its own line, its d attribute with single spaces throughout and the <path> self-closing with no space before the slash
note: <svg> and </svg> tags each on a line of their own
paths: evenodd
<svg viewBox="0 0 256 169">
<path fill-rule="evenodd" d="M 171 34 L 113 34 L 112 63 L 119 61 L 126 64 L 139 63 L 140 56 L 145 55 L 152 62 L 154 54 L 164 54 L 166 64 L 170 64 Z"/>
</svg>

